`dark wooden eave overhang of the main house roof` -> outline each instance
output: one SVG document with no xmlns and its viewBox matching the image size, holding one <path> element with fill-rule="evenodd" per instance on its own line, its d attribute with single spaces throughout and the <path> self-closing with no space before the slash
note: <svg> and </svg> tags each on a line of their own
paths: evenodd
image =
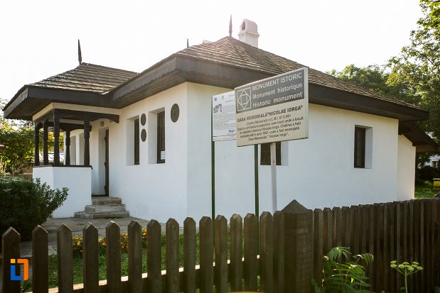
<svg viewBox="0 0 440 293">
<path fill-rule="evenodd" d="M 208 84 L 234 89 L 249 82 L 272 77 L 274 74 L 225 65 L 199 58 L 171 55 L 134 79 L 122 84 L 109 94 L 118 108 L 128 106 L 183 82 Z M 309 82 L 309 102 L 339 109 L 396 118 L 399 121 L 419 121 L 429 118 L 422 109 L 392 101 L 354 94 Z"/>
</svg>

